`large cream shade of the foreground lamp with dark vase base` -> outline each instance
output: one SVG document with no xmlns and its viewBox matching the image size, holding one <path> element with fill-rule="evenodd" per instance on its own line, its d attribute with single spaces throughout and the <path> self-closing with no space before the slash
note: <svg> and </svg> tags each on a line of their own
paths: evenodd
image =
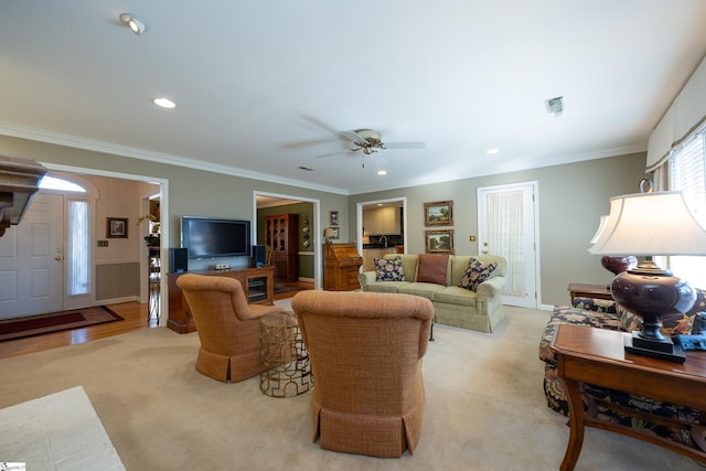
<svg viewBox="0 0 706 471">
<path fill-rule="evenodd" d="M 593 255 L 706 255 L 706 229 L 681 192 L 610 199 L 608 221 L 593 238 L 588 249 Z"/>
</svg>

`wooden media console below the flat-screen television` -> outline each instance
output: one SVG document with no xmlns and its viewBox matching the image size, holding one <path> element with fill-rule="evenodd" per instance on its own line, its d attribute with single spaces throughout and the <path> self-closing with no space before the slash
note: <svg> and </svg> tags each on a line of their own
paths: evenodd
<svg viewBox="0 0 706 471">
<path fill-rule="evenodd" d="M 275 267 L 271 265 L 257 268 L 244 268 L 240 270 L 204 270 L 189 271 L 195 275 L 210 275 L 231 277 L 240 281 L 247 302 L 252 304 L 274 304 L 275 297 Z M 169 319 L 167 327 L 179 333 L 189 333 L 196 330 L 194 319 L 191 317 L 186 298 L 176 286 L 176 280 L 185 274 L 167 274 L 169 288 Z"/>
</svg>

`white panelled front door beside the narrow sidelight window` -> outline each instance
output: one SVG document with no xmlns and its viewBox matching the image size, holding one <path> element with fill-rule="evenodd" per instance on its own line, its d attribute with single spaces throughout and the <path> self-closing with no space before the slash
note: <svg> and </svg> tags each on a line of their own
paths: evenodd
<svg viewBox="0 0 706 471">
<path fill-rule="evenodd" d="M 0 237 L 0 319 L 61 310 L 63 293 L 64 197 L 38 193 Z"/>
</svg>

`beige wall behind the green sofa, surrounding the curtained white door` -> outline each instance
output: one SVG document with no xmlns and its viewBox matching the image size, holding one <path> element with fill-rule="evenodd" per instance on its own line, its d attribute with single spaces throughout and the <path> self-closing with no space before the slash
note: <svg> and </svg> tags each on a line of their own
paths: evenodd
<svg viewBox="0 0 706 471">
<path fill-rule="evenodd" d="M 349 213 L 353 215 L 349 237 L 355 239 L 355 206 L 360 202 L 407 199 L 408 253 L 425 250 L 424 203 L 453 201 L 456 254 L 478 254 L 477 190 L 509 183 L 537 181 L 539 188 L 541 304 L 568 303 L 567 283 L 606 283 L 612 275 L 600 258 L 588 254 L 588 240 L 598 228 L 600 215 L 608 214 L 611 196 L 637 193 L 644 178 L 645 154 L 607 159 L 479 176 L 454 182 L 353 195 Z"/>
</svg>

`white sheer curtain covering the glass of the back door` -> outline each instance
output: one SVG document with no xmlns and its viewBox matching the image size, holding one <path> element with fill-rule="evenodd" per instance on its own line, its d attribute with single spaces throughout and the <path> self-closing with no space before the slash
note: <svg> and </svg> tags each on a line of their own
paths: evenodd
<svg viewBox="0 0 706 471">
<path fill-rule="evenodd" d="M 494 255 L 507 259 L 503 295 L 522 297 L 527 293 L 523 276 L 524 211 L 522 191 L 488 195 L 488 240 Z"/>
</svg>

